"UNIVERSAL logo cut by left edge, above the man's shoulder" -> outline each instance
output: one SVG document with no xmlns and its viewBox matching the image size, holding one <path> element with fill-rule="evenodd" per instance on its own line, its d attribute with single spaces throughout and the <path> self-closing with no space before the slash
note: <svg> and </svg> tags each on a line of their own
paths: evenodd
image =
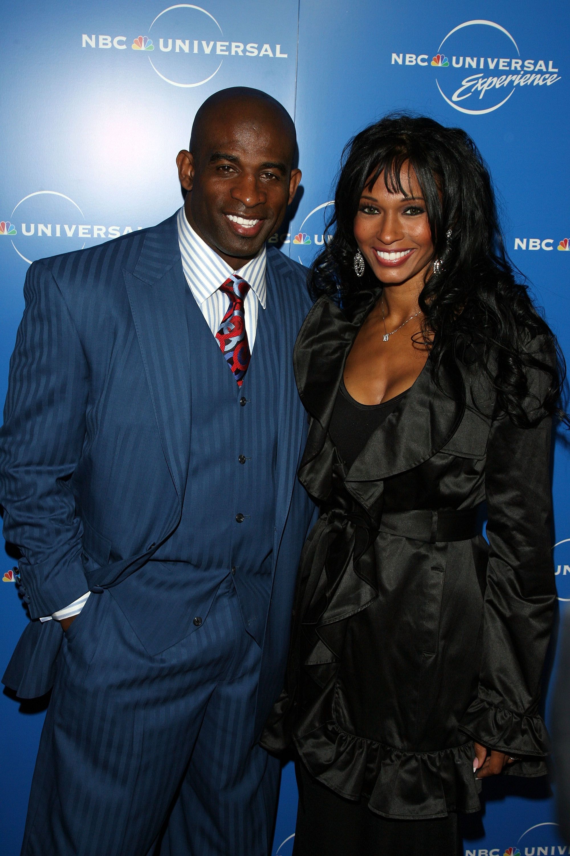
<svg viewBox="0 0 570 856">
<path fill-rule="evenodd" d="M 65 193 L 37 190 L 14 206 L 9 220 L 0 221 L 0 246 L 3 238 L 9 239 L 20 258 L 31 265 L 36 259 L 83 249 L 87 241 L 92 245 L 133 231 L 132 226 L 87 223 L 79 205 Z"/>
</svg>

